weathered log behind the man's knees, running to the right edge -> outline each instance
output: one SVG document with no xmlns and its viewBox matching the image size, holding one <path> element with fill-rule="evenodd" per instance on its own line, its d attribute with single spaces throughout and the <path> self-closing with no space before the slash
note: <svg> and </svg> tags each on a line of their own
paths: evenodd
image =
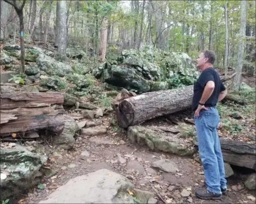
<svg viewBox="0 0 256 204">
<path fill-rule="evenodd" d="M 221 138 L 221 150 L 224 162 L 256 170 L 255 145 L 238 141 L 225 141 Z"/>
</svg>

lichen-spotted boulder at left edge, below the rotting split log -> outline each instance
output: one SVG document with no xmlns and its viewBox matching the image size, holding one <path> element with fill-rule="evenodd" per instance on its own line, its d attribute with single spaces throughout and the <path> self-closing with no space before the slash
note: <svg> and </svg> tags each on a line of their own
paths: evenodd
<svg viewBox="0 0 256 204">
<path fill-rule="evenodd" d="M 9 143 L 1 146 L 1 199 L 20 196 L 40 182 L 39 169 L 47 161 L 45 155 Z"/>
</svg>

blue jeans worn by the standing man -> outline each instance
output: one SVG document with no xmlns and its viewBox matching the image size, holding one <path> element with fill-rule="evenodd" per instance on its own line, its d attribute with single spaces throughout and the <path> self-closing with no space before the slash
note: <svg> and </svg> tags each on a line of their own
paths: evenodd
<svg viewBox="0 0 256 204">
<path fill-rule="evenodd" d="M 216 107 L 209 107 L 208 110 L 201 110 L 198 117 L 194 116 L 194 121 L 207 189 L 213 193 L 221 193 L 221 188 L 227 188 L 227 180 L 217 133 L 220 115 Z"/>
</svg>

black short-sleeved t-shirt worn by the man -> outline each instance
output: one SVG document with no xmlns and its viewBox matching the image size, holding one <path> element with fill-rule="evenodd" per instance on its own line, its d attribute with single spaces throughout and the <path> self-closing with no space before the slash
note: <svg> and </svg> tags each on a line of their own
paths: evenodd
<svg viewBox="0 0 256 204">
<path fill-rule="evenodd" d="M 194 95 L 192 100 L 192 110 L 196 111 L 199 105 L 199 101 L 202 97 L 204 87 L 208 81 L 214 81 L 215 88 L 214 92 L 212 92 L 210 98 L 206 100 L 205 107 L 213 107 L 217 105 L 218 95 L 220 92 L 225 91 L 225 86 L 221 81 L 220 76 L 215 71 L 214 68 L 209 67 L 204 69 L 204 71 L 200 74 L 198 80 L 194 82 Z"/>
</svg>

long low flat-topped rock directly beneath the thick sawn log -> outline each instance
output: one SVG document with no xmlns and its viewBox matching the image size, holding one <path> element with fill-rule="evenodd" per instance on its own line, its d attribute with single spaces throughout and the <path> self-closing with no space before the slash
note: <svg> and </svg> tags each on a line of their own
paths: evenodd
<svg viewBox="0 0 256 204">
<path fill-rule="evenodd" d="M 127 137 L 132 143 L 148 146 L 153 151 L 170 152 L 176 155 L 192 155 L 194 152 L 192 139 L 184 139 L 171 132 L 161 131 L 154 126 L 130 126 Z"/>
</svg>

